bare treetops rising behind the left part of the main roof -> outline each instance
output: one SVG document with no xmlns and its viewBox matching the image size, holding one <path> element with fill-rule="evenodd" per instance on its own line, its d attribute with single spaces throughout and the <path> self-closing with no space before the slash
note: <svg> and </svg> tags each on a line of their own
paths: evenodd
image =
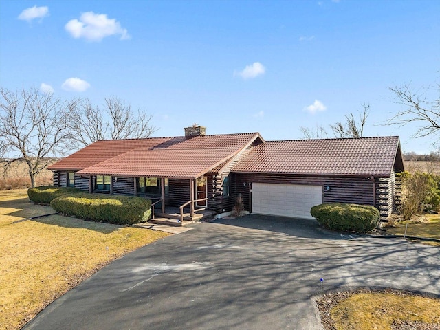
<svg viewBox="0 0 440 330">
<path fill-rule="evenodd" d="M 133 111 L 119 98 L 105 98 L 104 109 L 83 100 L 73 114 L 72 140 L 87 146 L 98 140 L 144 138 L 157 129 L 151 125 L 151 115 L 145 111 Z"/>
</svg>

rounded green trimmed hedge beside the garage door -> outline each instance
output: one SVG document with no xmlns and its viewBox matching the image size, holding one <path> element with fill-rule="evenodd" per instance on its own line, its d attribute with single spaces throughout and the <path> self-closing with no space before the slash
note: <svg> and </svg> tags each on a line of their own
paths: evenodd
<svg viewBox="0 0 440 330">
<path fill-rule="evenodd" d="M 320 225 L 332 230 L 369 232 L 379 224 L 380 213 L 374 206 L 328 203 L 311 208 Z"/>
</svg>

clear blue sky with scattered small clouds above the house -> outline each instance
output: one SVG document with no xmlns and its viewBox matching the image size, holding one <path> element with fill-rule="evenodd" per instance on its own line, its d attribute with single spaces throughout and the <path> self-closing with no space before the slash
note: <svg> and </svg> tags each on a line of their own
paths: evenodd
<svg viewBox="0 0 440 330">
<path fill-rule="evenodd" d="M 440 82 L 440 1 L 19 1 L 0 3 L 0 83 L 153 115 L 154 136 L 259 131 L 343 121 L 369 103 L 364 135 L 429 152 L 388 87 Z M 428 89 L 428 98 L 434 98 Z"/>
</svg>

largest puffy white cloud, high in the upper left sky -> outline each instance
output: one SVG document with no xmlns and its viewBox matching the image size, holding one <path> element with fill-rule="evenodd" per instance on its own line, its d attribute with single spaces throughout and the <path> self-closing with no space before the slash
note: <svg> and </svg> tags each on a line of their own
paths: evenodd
<svg viewBox="0 0 440 330">
<path fill-rule="evenodd" d="M 84 38 L 88 41 L 101 41 L 106 36 L 120 35 L 120 39 L 130 39 L 126 29 L 122 28 L 115 19 L 109 19 L 107 14 L 85 12 L 78 19 L 67 22 L 65 29 L 75 39 Z"/>
</svg>

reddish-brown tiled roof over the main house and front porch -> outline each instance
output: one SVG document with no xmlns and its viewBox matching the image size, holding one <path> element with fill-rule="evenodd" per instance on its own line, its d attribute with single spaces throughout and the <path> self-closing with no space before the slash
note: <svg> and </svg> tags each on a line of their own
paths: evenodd
<svg viewBox="0 0 440 330">
<path fill-rule="evenodd" d="M 211 170 L 218 162 L 225 162 L 259 136 L 259 133 L 242 133 L 188 139 L 180 136 L 102 140 L 61 159 L 49 169 L 81 170 L 78 173 L 83 175 L 192 177 L 193 173 L 203 171 L 203 166 L 204 170 Z"/>
</svg>

